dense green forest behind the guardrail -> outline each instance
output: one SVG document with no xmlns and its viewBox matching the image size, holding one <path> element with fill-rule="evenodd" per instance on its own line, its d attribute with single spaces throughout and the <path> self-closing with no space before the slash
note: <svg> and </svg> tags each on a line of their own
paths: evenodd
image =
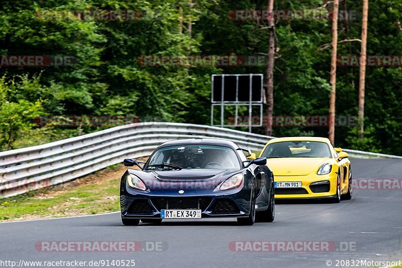
<svg viewBox="0 0 402 268">
<path fill-rule="evenodd" d="M 361 14 L 362 1 L 340 1 Z M 44 144 L 110 127 L 38 125 L 38 116 L 131 115 L 140 120 L 210 124 L 211 75 L 265 73 L 266 66 L 144 66 L 144 55 L 265 55 L 267 22 L 234 20 L 251 0 L 3 0 L 0 55 L 71 57 L 60 66 L 0 65 L 0 148 Z M 331 2 L 275 0 L 275 10 L 320 10 Z M 44 18 L 44 10 L 135 10 L 131 20 Z M 402 2 L 369 2 L 367 55 L 401 55 Z M 338 40 L 359 39 L 361 16 L 340 18 Z M 331 21 L 275 21 L 274 115 L 328 115 Z M 328 45 L 329 44 L 329 45 Z M 340 42 L 338 55 L 359 55 Z M 357 116 L 359 67 L 337 68 L 337 116 Z M 337 126 L 335 145 L 402 155 L 402 67 L 367 66 L 365 132 Z M 230 113 L 230 112 L 229 112 Z M 151 119 L 150 119 L 151 118 Z M 243 130 L 247 130 L 244 128 Z M 264 133 L 263 127 L 253 132 Z M 274 126 L 272 135 L 327 137 L 327 127 Z"/>
</svg>

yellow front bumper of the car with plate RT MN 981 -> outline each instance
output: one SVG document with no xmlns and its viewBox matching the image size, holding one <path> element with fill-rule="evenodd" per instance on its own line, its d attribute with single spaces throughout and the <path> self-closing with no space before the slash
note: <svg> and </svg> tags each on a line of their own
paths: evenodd
<svg viewBox="0 0 402 268">
<path fill-rule="evenodd" d="M 315 188 L 313 185 L 326 181 L 328 181 L 328 184 L 323 183 L 322 186 L 328 186 L 328 191 L 324 189 L 317 192 L 317 186 Z M 337 191 L 336 173 L 327 175 L 275 176 L 275 182 L 302 182 L 301 188 L 275 188 L 276 199 L 331 198 L 336 196 Z"/>
</svg>

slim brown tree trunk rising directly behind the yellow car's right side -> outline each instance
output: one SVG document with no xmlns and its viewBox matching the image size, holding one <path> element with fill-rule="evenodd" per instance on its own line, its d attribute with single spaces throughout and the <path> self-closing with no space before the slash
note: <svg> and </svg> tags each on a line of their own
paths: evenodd
<svg viewBox="0 0 402 268">
<path fill-rule="evenodd" d="M 334 0 L 334 13 L 332 18 L 332 54 L 331 54 L 331 95 L 330 95 L 330 110 L 329 110 L 329 131 L 328 139 L 335 144 L 335 97 L 336 97 L 336 55 L 338 48 L 338 10 L 339 0 Z"/>
</svg>

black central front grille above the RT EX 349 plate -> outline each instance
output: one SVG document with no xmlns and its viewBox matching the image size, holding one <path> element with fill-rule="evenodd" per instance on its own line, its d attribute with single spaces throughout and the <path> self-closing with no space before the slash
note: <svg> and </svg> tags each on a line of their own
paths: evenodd
<svg viewBox="0 0 402 268">
<path fill-rule="evenodd" d="M 205 210 L 211 203 L 211 198 L 152 198 L 152 204 L 158 209 L 201 209 Z"/>
</svg>

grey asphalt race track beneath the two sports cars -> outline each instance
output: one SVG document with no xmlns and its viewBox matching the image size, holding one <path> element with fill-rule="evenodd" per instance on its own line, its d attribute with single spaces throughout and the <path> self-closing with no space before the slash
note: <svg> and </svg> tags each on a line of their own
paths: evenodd
<svg viewBox="0 0 402 268">
<path fill-rule="evenodd" d="M 353 179 L 402 178 L 402 160 L 351 162 Z M 400 259 L 402 190 L 355 189 L 352 200 L 339 204 L 282 202 L 273 223 L 253 226 L 225 219 L 123 226 L 119 213 L 112 213 L 2 223 L 0 234 L 0 260 L 17 263 L 134 259 L 135 267 L 336 267 L 337 260 Z M 35 248 L 38 241 L 142 241 L 143 246 L 153 241 L 162 242 L 162 249 L 154 251 L 148 243 L 150 251 L 42 252 Z M 238 252 L 229 247 L 231 241 L 329 241 L 335 248 Z"/>
</svg>

